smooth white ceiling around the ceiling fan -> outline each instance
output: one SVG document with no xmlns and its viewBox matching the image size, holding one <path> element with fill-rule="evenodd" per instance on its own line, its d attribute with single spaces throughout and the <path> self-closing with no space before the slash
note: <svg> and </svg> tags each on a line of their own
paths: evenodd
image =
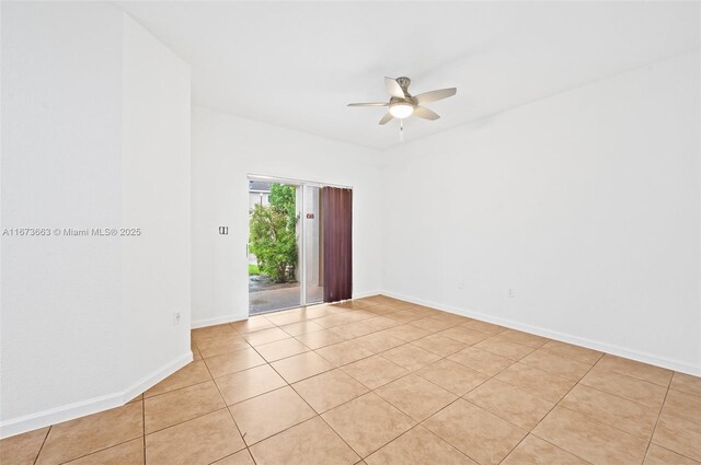
<svg viewBox="0 0 701 465">
<path fill-rule="evenodd" d="M 119 2 L 192 65 L 193 104 L 384 149 L 382 78 L 457 86 L 407 140 L 699 47 L 698 2 Z"/>
</svg>

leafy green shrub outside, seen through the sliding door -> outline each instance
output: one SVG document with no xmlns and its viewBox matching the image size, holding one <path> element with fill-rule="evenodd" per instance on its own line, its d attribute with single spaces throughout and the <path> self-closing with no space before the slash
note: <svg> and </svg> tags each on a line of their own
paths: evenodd
<svg viewBox="0 0 701 465">
<path fill-rule="evenodd" d="M 287 282 L 295 278 L 298 260 L 295 187 L 273 184 L 269 202 L 251 210 L 249 242 L 261 272 Z"/>
</svg>

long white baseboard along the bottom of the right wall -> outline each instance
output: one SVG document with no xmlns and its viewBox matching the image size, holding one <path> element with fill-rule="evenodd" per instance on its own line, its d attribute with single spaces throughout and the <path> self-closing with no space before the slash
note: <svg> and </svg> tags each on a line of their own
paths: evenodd
<svg viewBox="0 0 701 465">
<path fill-rule="evenodd" d="M 600 352 L 611 353 L 613 356 L 623 357 L 631 360 L 636 360 L 643 363 L 650 363 L 656 367 L 666 368 L 669 370 L 678 371 L 681 373 L 691 374 L 694 376 L 701 376 L 701 367 L 693 365 L 687 362 L 682 362 L 679 360 L 673 360 L 665 357 L 658 357 L 653 353 L 643 352 L 640 350 L 633 350 L 625 347 L 620 347 L 613 344 L 602 342 L 599 340 L 591 340 L 587 338 L 583 338 L 579 336 L 574 336 L 571 334 L 560 333 L 547 328 L 542 328 L 539 326 L 532 326 L 526 323 L 516 322 L 513 319 L 499 318 L 497 316 L 492 316 L 485 313 L 457 309 L 449 305 L 444 305 L 437 302 L 426 301 L 422 299 L 416 299 L 411 295 L 403 295 L 397 292 L 391 291 L 380 291 L 379 293 L 400 299 L 406 302 L 415 303 L 417 305 L 430 306 L 434 309 L 443 310 L 445 312 L 455 313 L 457 315 L 468 316 L 470 318 L 481 319 L 487 323 L 494 323 L 495 325 L 505 326 L 512 329 L 518 329 L 526 333 L 535 334 L 537 336 L 547 337 L 549 339 L 560 340 L 562 342 L 573 344 L 576 346 L 586 347 L 588 349 L 598 350 Z"/>
</svg>

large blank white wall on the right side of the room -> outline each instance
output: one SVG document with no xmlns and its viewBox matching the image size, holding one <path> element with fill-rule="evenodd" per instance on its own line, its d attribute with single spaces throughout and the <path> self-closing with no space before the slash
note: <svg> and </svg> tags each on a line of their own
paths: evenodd
<svg viewBox="0 0 701 465">
<path fill-rule="evenodd" d="M 390 151 L 384 289 L 701 374 L 700 78 L 696 50 Z"/>
</svg>

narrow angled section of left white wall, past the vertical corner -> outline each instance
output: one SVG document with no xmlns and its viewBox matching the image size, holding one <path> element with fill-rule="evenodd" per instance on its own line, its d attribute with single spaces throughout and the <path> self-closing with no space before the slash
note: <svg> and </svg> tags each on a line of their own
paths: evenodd
<svg viewBox="0 0 701 465">
<path fill-rule="evenodd" d="M 189 66 L 124 16 L 122 241 L 124 379 L 131 397 L 189 348 Z M 174 324 L 174 314 L 181 323 Z"/>
</svg>

